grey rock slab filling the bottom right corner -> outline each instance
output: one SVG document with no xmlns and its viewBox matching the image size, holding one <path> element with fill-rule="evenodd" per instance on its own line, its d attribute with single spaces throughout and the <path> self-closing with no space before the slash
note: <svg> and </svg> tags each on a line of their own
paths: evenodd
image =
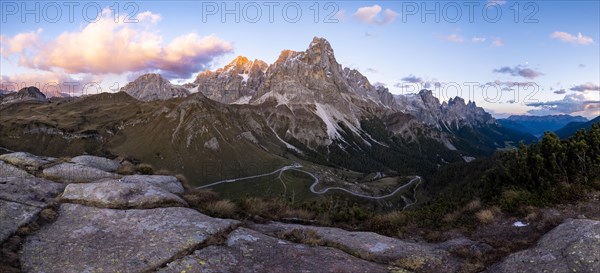
<svg viewBox="0 0 600 273">
<path fill-rule="evenodd" d="M 567 220 L 487 272 L 600 272 L 600 222 Z"/>
</svg>

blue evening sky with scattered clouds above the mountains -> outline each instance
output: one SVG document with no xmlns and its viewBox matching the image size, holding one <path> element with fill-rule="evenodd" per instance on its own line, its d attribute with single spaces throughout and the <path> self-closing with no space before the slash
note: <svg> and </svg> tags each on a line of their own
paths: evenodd
<svg viewBox="0 0 600 273">
<path fill-rule="evenodd" d="M 0 2 L 0 89 L 114 92 L 326 38 L 394 94 L 432 89 L 496 117 L 600 115 L 600 1 Z"/>
</svg>

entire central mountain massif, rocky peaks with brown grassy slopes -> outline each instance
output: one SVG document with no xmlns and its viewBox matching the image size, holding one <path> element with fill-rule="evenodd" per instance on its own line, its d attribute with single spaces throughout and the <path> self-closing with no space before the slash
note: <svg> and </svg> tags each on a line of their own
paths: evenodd
<svg viewBox="0 0 600 273">
<path fill-rule="evenodd" d="M 46 104 L 11 100 L 0 106 L 0 146 L 128 156 L 200 183 L 294 160 L 318 169 L 431 173 L 536 140 L 459 97 L 440 103 L 428 90 L 394 96 L 373 86 L 343 68 L 322 38 L 305 51 L 282 51 L 272 64 L 238 57 L 192 83 L 147 74 L 121 91 Z"/>
</svg>

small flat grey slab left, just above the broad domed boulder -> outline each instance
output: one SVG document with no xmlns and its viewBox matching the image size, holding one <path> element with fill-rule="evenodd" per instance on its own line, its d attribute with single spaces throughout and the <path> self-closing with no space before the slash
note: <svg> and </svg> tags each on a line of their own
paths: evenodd
<svg viewBox="0 0 600 273">
<path fill-rule="evenodd" d="M 63 183 L 86 183 L 102 178 L 119 178 L 117 174 L 74 163 L 60 163 L 44 169 L 43 174 Z"/>
</svg>

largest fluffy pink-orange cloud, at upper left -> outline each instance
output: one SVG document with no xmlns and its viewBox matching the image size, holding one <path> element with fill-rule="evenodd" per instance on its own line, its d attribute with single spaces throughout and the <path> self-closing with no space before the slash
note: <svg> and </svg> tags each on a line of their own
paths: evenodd
<svg viewBox="0 0 600 273">
<path fill-rule="evenodd" d="M 160 16 L 149 12 L 140 16 L 143 20 L 138 24 L 121 20 L 115 23 L 111 11 L 105 9 L 97 22 L 79 31 L 63 32 L 37 48 L 30 48 L 32 52 L 27 54 L 24 48 L 14 46 L 19 44 L 20 34 L 3 37 L 2 51 L 19 54 L 21 66 L 46 71 L 120 74 L 155 70 L 167 77 L 188 78 L 205 69 L 215 57 L 233 50 L 231 43 L 216 36 L 200 37 L 195 33 L 178 36 L 164 45 L 158 32 L 144 29 Z"/>
</svg>

